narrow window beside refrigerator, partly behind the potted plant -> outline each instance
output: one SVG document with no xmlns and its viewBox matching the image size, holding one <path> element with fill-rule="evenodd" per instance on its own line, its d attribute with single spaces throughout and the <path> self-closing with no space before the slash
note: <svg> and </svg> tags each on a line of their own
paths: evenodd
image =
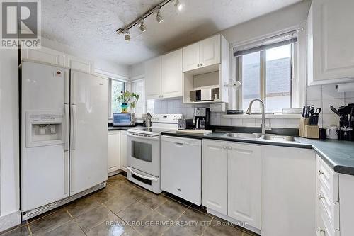
<svg viewBox="0 0 354 236">
<path fill-rule="evenodd" d="M 120 96 L 122 91 L 125 91 L 125 82 L 117 79 L 109 79 L 108 87 L 109 118 L 112 118 L 113 113 L 120 113 L 120 103 L 117 97 Z"/>
</svg>

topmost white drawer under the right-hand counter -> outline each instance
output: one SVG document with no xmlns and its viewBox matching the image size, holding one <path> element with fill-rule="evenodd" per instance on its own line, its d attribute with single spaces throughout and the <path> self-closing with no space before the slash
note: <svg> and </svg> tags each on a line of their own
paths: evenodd
<svg viewBox="0 0 354 236">
<path fill-rule="evenodd" d="M 339 202 L 338 174 L 319 156 L 317 156 L 317 184 L 327 193 L 333 203 Z"/>
</svg>

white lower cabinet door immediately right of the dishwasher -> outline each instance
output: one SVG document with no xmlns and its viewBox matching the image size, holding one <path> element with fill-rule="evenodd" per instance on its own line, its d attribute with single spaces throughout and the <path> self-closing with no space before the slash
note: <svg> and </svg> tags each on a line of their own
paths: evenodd
<svg viewBox="0 0 354 236">
<path fill-rule="evenodd" d="M 202 206 L 227 215 L 227 144 L 202 140 Z"/>
</svg>

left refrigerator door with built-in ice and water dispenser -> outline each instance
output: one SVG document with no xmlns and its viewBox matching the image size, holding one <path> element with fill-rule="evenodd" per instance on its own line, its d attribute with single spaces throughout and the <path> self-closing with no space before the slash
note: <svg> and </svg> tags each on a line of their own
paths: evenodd
<svg viewBox="0 0 354 236">
<path fill-rule="evenodd" d="M 21 211 L 69 196 L 69 151 L 65 149 L 69 142 L 69 104 L 64 105 L 69 103 L 69 91 L 66 88 L 69 88 L 68 69 L 22 63 Z M 51 125 L 57 127 L 55 130 L 50 128 L 53 114 L 62 118 L 62 123 Z"/>
</svg>

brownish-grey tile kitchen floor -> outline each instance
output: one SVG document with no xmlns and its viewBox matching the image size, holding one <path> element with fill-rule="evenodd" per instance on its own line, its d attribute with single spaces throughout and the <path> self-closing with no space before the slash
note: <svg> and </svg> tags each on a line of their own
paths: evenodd
<svg viewBox="0 0 354 236">
<path fill-rule="evenodd" d="M 3 235 L 233 235 L 253 233 L 228 225 L 198 206 L 156 195 L 118 174 L 105 189 L 30 219 Z"/>
</svg>

